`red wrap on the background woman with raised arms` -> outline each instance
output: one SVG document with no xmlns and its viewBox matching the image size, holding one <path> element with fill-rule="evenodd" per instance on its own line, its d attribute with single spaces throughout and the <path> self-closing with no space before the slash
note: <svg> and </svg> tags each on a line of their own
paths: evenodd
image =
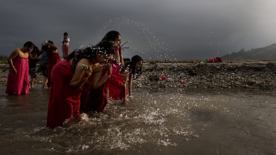
<svg viewBox="0 0 276 155">
<path fill-rule="evenodd" d="M 60 59 L 60 55 L 58 53 L 50 53 L 50 54 L 47 53 L 47 57 L 48 57 L 48 74 L 47 74 L 48 83 L 47 83 L 47 86 L 50 87 L 51 71 L 52 71 L 54 65 L 59 63 L 61 61 L 61 59 Z"/>
</svg>

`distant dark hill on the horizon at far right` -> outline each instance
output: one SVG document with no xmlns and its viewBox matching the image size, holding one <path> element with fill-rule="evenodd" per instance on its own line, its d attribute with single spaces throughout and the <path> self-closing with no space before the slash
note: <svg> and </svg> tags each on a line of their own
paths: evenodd
<svg viewBox="0 0 276 155">
<path fill-rule="evenodd" d="M 267 47 L 251 49 L 245 51 L 241 49 L 239 52 L 223 55 L 224 61 L 244 61 L 244 60 L 276 60 L 276 43 Z"/>
</svg>

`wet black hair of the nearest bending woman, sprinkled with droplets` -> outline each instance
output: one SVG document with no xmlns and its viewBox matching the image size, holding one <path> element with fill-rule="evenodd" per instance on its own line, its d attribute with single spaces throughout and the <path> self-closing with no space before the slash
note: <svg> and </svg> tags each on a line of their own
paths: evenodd
<svg viewBox="0 0 276 155">
<path fill-rule="evenodd" d="M 113 54 L 114 53 L 114 48 L 111 42 L 109 41 L 101 41 L 95 46 L 87 46 L 84 49 L 76 49 L 72 53 L 66 57 L 66 59 L 69 61 L 70 59 L 74 58 L 72 66 L 73 66 L 73 73 L 75 72 L 75 69 L 78 65 L 78 61 L 80 61 L 83 58 L 86 59 L 95 59 L 97 52 L 100 54 Z"/>
</svg>

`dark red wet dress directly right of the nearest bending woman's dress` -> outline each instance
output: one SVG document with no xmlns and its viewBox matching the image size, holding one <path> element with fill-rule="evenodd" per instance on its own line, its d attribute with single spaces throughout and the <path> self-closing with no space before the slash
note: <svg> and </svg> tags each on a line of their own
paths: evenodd
<svg viewBox="0 0 276 155">
<path fill-rule="evenodd" d="M 106 68 L 103 68 L 101 77 L 107 73 Z M 107 79 L 104 84 L 96 89 L 91 88 L 89 84 L 86 84 L 81 93 L 81 111 L 96 111 L 102 112 L 107 104 Z"/>
</svg>

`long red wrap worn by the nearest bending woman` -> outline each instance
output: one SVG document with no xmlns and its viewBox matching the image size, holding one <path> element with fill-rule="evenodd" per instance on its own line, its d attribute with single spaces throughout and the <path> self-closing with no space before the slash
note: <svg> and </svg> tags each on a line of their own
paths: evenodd
<svg viewBox="0 0 276 155">
<path fill-rule="evenodd" d="M 66 119 L 79 117 L 81 89 L 72 90 L 72 65 L 68 60 L 57 63 L 51 74 L 51 89 L 47 113 L 47 127 L 63 125 Z"/>
</svg>

